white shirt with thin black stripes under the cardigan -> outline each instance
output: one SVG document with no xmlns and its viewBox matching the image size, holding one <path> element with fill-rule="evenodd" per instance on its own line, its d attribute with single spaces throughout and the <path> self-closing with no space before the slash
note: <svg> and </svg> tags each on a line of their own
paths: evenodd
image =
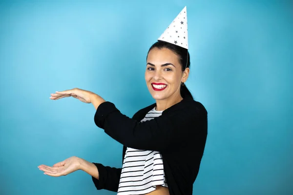
<svg viewBox="0 0 293 195">
<path fill-rule="evenodd" d="M 153 108 L 141 122 L 159 117 L 162 112 Z M 127 148 L 117 195 L 147 194 L 154 191 L 156 185 L 168 187 L 162 155 L 156 151 Z"/>
</svg>

